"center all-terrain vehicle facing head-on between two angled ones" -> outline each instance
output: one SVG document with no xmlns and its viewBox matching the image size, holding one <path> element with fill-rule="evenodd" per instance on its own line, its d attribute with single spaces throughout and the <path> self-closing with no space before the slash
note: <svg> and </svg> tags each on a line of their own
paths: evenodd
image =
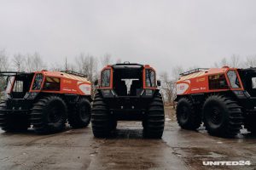
<svg viewBox="0 0 256 170">
<path fill-rule="evenodd" d="M 118 121 L 142 121 L 143 136 L 160 139 L 165 112 L 158 86 L 149 65 L 125 62 L 103 68 L 91 111 L 94 136 L 108 137 Z"/>
</svg>

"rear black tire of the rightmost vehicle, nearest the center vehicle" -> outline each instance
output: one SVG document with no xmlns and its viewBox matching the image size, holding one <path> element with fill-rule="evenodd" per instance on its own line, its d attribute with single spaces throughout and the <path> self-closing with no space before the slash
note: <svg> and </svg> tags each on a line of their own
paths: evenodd
<svg viewBox="0 0 256 170">
<path fill-rule="evenodd" d="M 179 99 L 176 109 L 177 124 L 188 130 L 196 130 L 201 126 L 201 114 L 195 110 L 192 102 L 187 99 Z"/>
</svg>

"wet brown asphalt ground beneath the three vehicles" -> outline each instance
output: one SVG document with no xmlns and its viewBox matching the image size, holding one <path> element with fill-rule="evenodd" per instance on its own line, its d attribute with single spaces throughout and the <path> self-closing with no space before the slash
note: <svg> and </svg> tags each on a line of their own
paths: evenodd
<svg viewBox="0 0 256 170">
<path fill-rule="evenodd" d="M 169 111 L 170 112 L 170 111 Z M 119 122 L 110 139 L 95 139 L 91 128 L 51 135 L 0 131 L 0 169 L 256 169 L 256 136 L 242 130 L 221 139 L 182 130 L 166 114 L 162 139 L 143 139 L 140 122 Z M 251 166 L 203 166 L 202 161 L 251 161 Z"/>
</svg>

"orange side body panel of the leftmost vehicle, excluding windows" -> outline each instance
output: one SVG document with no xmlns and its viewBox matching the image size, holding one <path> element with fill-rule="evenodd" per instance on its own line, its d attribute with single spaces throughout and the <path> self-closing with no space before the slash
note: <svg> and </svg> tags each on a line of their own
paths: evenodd
<svg viewBox="0 0 256 170">
<path fill-rule="evenodd" d="M 67 74 L 65 72 L 59 72 L 59 71 L 37 71 L 35 72 L 35 76 L 39 73 L 44 75 L 44 80 L 42 84 L 44 84 L 46 77 L 59 78 L 60 91 L 42 90 L 42 88 L 40 90 L 32 90 L 32 86 L 31 86 L 30 92 L 91 95 L 91 83 L 85 77 L 74 76 L 72 74 Z M 34 78 L 33 78 L 33 82 L 34 82 Z"/>
</svg>

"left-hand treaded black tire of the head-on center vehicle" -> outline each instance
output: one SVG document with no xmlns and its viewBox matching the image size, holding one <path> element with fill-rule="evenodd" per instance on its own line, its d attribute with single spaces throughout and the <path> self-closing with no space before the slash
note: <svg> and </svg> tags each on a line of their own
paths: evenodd
<svg viewBox="0 0 256 170">
<path fill-rule="evenodd" d="M 102 94 L 96 93 L 91 110 L 91 127 L 96 138 L 106 138 L 113 129 L 108 106 L 102 99 Z"/>
</svg>

